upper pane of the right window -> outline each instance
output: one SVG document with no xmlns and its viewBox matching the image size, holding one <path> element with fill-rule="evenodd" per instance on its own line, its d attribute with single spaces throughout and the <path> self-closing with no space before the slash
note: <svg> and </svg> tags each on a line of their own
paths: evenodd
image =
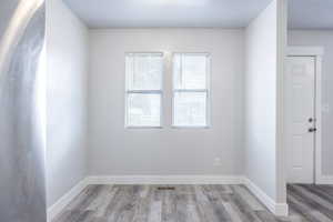
<svg viewBox="0 0 333 222">
<path fill-rule="evenodd" d="M 206 89 L 208 57 L 176 54 L 174 57 L 175 89 Z"/>
</svg>

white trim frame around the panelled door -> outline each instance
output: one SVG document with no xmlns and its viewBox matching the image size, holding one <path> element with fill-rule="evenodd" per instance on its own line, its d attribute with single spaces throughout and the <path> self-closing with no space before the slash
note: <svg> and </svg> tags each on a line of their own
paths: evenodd
<svg viewBox="0 0 333 222">
<path fill-rule="evenodd" d="M 314 114 L 316 133 L 314 138 L 314 183 L 323 182 L 322 173 L 322 58 L 324 56 L 323 47 L 287 47 L 287 57 L 313 57 L 315 59 L 315 85 L 314 85 Z M 286 125 L 286 124 L 285 124 Z M 284 138 L 286 145 L 287 135 Z M 285 152 L 286 153 L 286 152 Z M 286 158 L 286 157 L 285 157 Z M 287 169 L 287 168 L 286 168 Z"/>
</svg>

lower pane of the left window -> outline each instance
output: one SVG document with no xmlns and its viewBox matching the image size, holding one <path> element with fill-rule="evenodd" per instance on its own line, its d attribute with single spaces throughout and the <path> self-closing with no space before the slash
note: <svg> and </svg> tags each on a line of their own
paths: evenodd
<svg viewBox="0 0 333 222">
<path fill-rule="evenodd" d="M 128 125 L 160 127 L 161 94 L 129 93 Z"/>
</svg>

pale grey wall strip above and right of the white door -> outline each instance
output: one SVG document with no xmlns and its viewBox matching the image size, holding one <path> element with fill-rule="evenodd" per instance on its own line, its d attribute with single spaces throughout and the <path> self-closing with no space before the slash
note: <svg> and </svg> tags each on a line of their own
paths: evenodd
<svg viewBox="0 0 333 222">
<path fill-rule="evenodd" d="M 290 30 L 289 46 L 324 47 L 322 69 L 322 103 L 330 105 L 322 113 L 322 172 L 333 175 L 333 30 Z"/>
</svg>

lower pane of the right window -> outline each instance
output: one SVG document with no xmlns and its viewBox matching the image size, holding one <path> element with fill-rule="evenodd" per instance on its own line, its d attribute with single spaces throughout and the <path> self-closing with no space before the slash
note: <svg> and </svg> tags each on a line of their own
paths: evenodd
<svg viewBox="0 0 333 222">
<path fill-rule="evenodd" d="M 174 93 L 174 125 L 206 127 L 206 92 Z"/>
</svg>

